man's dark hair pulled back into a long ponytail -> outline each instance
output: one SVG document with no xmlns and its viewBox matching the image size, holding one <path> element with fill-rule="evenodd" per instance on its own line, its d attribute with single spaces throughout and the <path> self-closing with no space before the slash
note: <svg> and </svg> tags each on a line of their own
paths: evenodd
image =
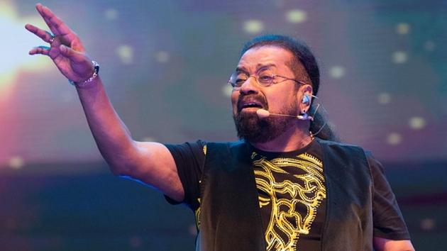
<svg viewBox="0 0 447 251">
<path fill-rule="evenodd" d="M 277 46 L 292 52 L 294 55 L 294 59 L 291 62 L 292 71 L 298 72 L 299 64 L 301 64 L 309 76 L 313 94 L 317 96 L 320 86 L 320 71 L 318 63 L 316 62 L 314 54 L 312 54 L 311 50 L 309 49 L 309 46 L 307 46 L 303 41 L 286 35 L 261 35 L 248 41 L 248 43 L 245 43 L 241 50 L 240 57 L 242 57 L 242 55 L 251 48 L 267 45 Z M 309 114 L 314 115 L 314 121 L 311 121 L 309 130 L 315 135 L 315 137 L 321 138 L 322 140 L 338 141 L 338 137 L 333 130 L 333 125 L 329 123 L 326 116 L 320 109 L 316 111 L 314 99 L 312 99 Z"/>
</svg>

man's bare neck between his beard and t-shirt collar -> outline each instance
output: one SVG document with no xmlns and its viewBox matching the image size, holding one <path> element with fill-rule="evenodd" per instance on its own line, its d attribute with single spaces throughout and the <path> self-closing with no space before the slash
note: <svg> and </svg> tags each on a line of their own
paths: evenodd
<svg viewBox="0 0 447 251">
<path fill-rule="evenodd" d="M 290 152 L 309 145 L 311 141 L 309 122 L 307 122 L 297 123 L 296 127 L 289 128 L 280 136 L 269 142 L 250 144 L 265 152 Z"/>
</svg>

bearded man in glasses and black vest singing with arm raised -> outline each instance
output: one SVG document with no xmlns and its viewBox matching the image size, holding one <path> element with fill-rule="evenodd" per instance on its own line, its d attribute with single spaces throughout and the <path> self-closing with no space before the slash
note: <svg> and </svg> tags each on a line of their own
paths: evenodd
<svg viewBox="0 0 447 251">
<path fill-rule="evenodd" d="M 111 171 L 154 186 L 195 211 L 197 250 L 414 250 L 379 162 L 333 141 L 316 113 L 319 69 L 305 45 L 250 41 L 229 84 L 237 143 L 162 145 L 132 140 L 111 106 L 99 65 L 50 9 L 51 33 L 27 24 L 75 85 Z M 313 118 L 315 117 L 315 118 Z"/>
</svg>

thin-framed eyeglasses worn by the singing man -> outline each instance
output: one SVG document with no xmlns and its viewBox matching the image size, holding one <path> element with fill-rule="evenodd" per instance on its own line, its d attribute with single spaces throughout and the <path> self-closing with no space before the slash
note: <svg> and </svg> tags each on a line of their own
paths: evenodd
<svg viewBox="0 0 447 251">
<path fill-rule="evenodd" d="M 267 74 L 267 73 L 261 73 L 260 75 L 248 75 L 243 72 L 234 72 L 231 74 L 230 80 L 228 80 L 228 84 L 231 85 L 233 88 L 233 91 L 238 91 L 241 89 L 243 83 L 245 83 L 250 77 L 254 77 L 256 79 L 256 82 L 261 87 L 270 87 L 272 84 L 278 84 L 280 82 L 285 82 L 286 80 L 292 80 L 294 82 L 297 82 L 298 84 L 306 84 L 305 82 L 302 82 L 297 79 L 290 79 L 288 77 L 276 75 L 276 74 Z"/>
</svg>

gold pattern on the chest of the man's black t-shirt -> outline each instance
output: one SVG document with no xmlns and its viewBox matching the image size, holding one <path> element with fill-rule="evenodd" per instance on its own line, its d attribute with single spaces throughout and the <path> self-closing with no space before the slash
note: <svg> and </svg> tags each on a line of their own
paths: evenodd
<svg viewBox="0 0 447 251">
<path fill-rule="evenodd" d="M 326 198 L 324 186 L 323 163 L 313 155 L 303 153 L 297 158 L 275 158 L 252 155 L 255 167 L 255 179 L 259 196 L 259 206 L 271 203 L 270 222 L 265 231 L 267 251 L 296 249 L 300 234 L 307 235 L 316 217 L 316 209 Z M 297 168 L 293 182 L 290 179 L 281 180 L 278 174 L 289 174 L 287 169 Z M 275 176 L 273 175 L 275 174 Z M 300 214 L 299 204 L 307 208 L 307 213 Z"/>
</svg>

